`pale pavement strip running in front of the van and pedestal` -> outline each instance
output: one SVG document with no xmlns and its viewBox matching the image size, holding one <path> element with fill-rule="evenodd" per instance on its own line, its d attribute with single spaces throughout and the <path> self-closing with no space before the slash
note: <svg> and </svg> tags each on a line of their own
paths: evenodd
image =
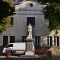
<svg viewBox="0 0 60 60">
<path fill-rule="evenodd" d="M 41 55 L 41 56 L 38 56 L 38 55 L 35 55 L 35 56 L 28 56 L 28 55 L 17 55 L 17 56 L 0 56 L 0 58 L 50 58 L 46 55 Z"/>
</svg>

